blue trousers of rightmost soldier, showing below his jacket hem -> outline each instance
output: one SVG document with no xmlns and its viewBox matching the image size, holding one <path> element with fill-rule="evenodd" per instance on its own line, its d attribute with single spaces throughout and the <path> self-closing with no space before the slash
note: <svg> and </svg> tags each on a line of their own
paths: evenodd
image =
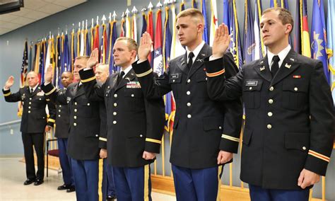
<svg viewBox="0 0 335 201">
<path fill-rule="evenodd" d="M 249 184 L 249 194 L 252 201 L 308 201 L 310 189 L 276 190 Z"/>
</svg>

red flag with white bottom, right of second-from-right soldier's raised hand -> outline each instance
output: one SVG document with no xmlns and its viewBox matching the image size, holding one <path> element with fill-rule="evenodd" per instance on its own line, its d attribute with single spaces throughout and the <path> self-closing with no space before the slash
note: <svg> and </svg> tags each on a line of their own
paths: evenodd
<svg viewBox="0 0 335 201">
<path fill-rule="evenodd" d="M 154 42 L 153 71 L 160 76 L 163 74 L 163 55 L 162 55 L 162 10 L 156 13 L 156 31 Z"/>
</svg>

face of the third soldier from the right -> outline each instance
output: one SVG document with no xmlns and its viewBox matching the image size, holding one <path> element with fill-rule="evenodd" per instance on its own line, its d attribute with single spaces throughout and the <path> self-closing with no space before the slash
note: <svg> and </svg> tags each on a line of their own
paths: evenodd
<svg viewBox="0 0 335 201">
<path fill-rule="evenodd" d="M 113 47 L 114 63 L 119 67 L 128 67 L 134 59 L 134 50 L 129 50 L 126 40 L 118 40 Z"/>
</svg>

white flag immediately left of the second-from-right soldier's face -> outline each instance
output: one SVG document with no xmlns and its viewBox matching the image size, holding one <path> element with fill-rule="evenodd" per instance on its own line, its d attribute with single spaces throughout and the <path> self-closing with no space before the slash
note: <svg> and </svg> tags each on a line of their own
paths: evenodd
<svg viewBox="0 0 335 201">
<path fill-rule="evenodd" d="M 180 44 L 179 38 L 177 38 L 177 28 L 176 28 L 176 12 L 175 12 L 175 5 L 172 4 L 171 6 L 172 12 L 172 42 L 171 42 L 171 55 L 170 59 L 175 59 L 175 57 L 179 57 L 180 55 L 185 54 L 186 50 Z"/>
</svg>

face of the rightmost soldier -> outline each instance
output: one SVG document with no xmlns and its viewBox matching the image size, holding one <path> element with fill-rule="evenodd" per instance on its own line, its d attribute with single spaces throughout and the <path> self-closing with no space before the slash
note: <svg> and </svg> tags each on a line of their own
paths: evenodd
<svg viewBox="0 0 335 201">
<path fill-rule="evenodd" d="M 259 27 L 265 46 L 271 47 L 286 40 L 288 28 L 278 18 L 278 11 L 270 11 L 261 16 Z"/>
</svg>

